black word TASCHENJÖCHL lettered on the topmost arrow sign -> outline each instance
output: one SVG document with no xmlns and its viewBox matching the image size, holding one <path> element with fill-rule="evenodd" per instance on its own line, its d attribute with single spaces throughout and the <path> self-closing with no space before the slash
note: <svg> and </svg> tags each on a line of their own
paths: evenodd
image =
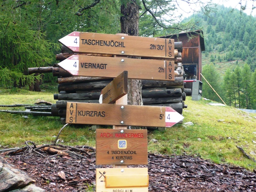
<svg viewBox="0 0 256 192">
<path fill-rule="evenodd" d="M 83 45 L 92 46 L 107 46 L 107 47 L 125 47 L 124 42 L 119 41 L 105 41 L 105 40 L 94 40 L 94 39 L 81 39 Z"/>
</svg>

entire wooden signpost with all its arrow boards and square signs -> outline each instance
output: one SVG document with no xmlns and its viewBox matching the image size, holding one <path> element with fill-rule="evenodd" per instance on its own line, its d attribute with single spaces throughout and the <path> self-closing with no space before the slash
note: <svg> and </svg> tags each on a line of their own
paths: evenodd
<svg viewBox="0 0 256 192">
<path fill-rule="evenodd" d="M 67 102 L 66 108 L 66 123 L 113 125 L 96 130 L 96 164 L 113 165 L 96 169 L 96 192 L 148 192 L 148 168 L 126 166 L 148 164 L 147 130 L 127 130 L 127 126 L 171 127 L 183 116 L 170 107 L 127 105 L 127 82 L 128 78 L 174 81 L 174 61 L 170 61 L 174 40 L 72 32 L 59 41 L 74 52 L 115 55 L 73 55 L 58 64 L 73 76 L 114 78 L 102 90 L 100 104 Z"/>
</svg>

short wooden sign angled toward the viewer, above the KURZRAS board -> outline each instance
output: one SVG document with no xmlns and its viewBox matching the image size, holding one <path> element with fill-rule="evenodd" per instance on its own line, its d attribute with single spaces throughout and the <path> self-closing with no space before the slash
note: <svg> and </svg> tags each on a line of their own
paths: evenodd
<svg viewBox="0 0 256 192">
<path fill-rule="evenodd" d="M 127 91 L 128 72 L 124 71 L 102 89 L 99 102 L 114 103 L 116 100 L 127 94 Z"/>
</svg>

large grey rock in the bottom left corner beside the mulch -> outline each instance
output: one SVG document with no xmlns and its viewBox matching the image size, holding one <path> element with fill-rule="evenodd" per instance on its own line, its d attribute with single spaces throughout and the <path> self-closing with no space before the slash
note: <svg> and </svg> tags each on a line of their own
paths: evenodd
<svg viewBox="0 0 256 192">
<path fill-rule="evenodd" d="M 16 169 L 14 165 L 4 163 L 4 159 L 0 157 L 0 192 L 17 191 L 17 192 L 40 192 L 40 188 L 33 190 L 23 190 L 24 187 L 30 186 L 32 179 L 23 171 Z M 25 188 L 26 189 L 26 188 Z"/>
</svg>

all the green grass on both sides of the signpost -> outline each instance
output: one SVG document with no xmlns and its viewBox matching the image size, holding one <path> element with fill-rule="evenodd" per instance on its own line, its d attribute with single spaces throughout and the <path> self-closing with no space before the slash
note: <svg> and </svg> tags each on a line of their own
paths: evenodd
<svg viewBox="0 0 256 192">
<path fill-rule="evenodd" d="M 32 104 L 38 100 L 55 102 L 52 92 L 0 92 L 0 104 Z M 253 143 L 256 141 L 256 114 L 247 114 L 228 106 L 210 106 L 208 102 L 196 102 L 187 97 L 185 103 L 188 108 L 183 112 L 184 122 L 191 121 L 194 125 L 184 127 L 178 124 L 167 128 L 165 132 L 149 132 L 148 151 L 188 154 L 217 163 L 243 166 L 250 170 L 255 168 L 256 163 L 246 159 L 236 145 L 256 158 L 256 144 Z M 53 136 L 58 134 L 62 126 L 58 117 L 29 116 L 25 119 L 21 115 L 0 113 L 0 145 L 23 146 L 26 140 L 36 144 L 49 143 L 55 140 Z M 64 141 L 63 144 L 95 146 L 95 133 L 87 126 L 70 125 L 62 131 L 60 139 Z"/>
</svg>

